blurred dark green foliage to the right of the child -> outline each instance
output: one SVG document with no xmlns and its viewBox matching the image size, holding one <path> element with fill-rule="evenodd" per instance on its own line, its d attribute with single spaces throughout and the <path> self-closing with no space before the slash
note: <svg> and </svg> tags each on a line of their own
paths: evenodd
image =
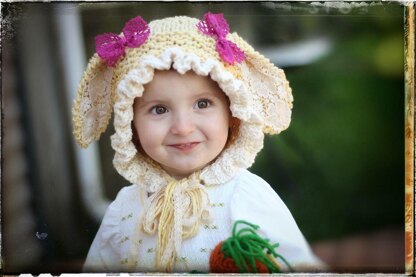
<svg viewBox="0 0 416 277">
<path fill-rule="evenodd" d="M 315 18 L 314 26 L 331 34 L 332 51 L 285 70 L 295 99 L 292 123 L 266 138 L 252 171 L 274 186 L 312 241 L 403 224 L 399 11 L 355 20 Z"/>
</svg>

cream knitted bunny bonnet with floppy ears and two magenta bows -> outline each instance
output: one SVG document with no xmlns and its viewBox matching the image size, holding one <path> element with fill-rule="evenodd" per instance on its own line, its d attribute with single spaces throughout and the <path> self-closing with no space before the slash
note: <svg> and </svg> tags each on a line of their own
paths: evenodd
<svg viewBox="0 0 416 277">
<path fill-rule="evenodd" d="M 232 116 L 240 122 L 236 138 L 199 172 L 198 184 L 226 183 L 239 169 L 252 165 L 263 147 L 264 133 L 280 133 L 290 123 L 293 98 L 283 70 L 230 33 L 221 14 L 207 13 L 203 19 L 177 16 L 149 24 L 136 17 L 120 35 L 96 37 L 96 46 L 74 101 L 74 136 L 87 147 L 100 138 L 114 111 L 114 167 L 149 194 L 163 191 L 172 181 L 132 141 L 134 99 L 146 93 L 144 85 L 152 81 L 154 70 L 173 68 L 180 74 L 192 70 L 209 76 L 227 95 Z M 182 231 L 173 232 L 180 236 Z"/>
</svg>

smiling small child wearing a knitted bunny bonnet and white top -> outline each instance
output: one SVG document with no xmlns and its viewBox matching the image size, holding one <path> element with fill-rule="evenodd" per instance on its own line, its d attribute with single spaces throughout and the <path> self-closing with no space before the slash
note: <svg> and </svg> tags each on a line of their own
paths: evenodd
<svg viewBox="0 0 416 277">
<path fill-rule="evenodd" d="M 322 266 L 279 196 L 247 171 L 264 133 L 290 123 L 281 69 L 230 34 L 222 14 L 136 17 L 121 35 L 97 36 L 96 49 L 74 102 L 74 135 L 83 147 L 98 140 L 114 109 L 113 163 L 132 185 L 109 206 L 85 271 Z"/>
</svg>

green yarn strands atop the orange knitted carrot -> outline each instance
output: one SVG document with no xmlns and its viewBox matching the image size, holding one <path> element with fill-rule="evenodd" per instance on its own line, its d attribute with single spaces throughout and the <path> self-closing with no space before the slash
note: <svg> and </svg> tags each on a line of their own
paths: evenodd
<svg viewBox="0 0 416 277">
<path fill-rule="evenodd" d="M 245 224 L 248 227 L 241 228 L 237 232 L 237 225 Z M 279 244 L 270 244 L 268 239 L 257 235 L 256 230 L 259 226 L 244 220 L 237 220 L 233 226 L 232 236 L 224 241 L 221 252 L 225 257 L 231 257 L 237 265 L 240 273 L 257 272 L 256 261 L 264 264 L 270 273 L 281 273 L 282 270 L 273 262 L 273 257 L 280 259 L 290 271 L 292 267 L 286 259 L 276 252 Z"/>
</svg>

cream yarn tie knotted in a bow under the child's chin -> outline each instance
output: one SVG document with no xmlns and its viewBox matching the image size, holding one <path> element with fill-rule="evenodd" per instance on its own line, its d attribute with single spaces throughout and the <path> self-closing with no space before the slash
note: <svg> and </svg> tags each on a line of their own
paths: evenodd
<svg viewBox="0 0 416 277">
<path fill-rule="evenodd" d="M 145 209 L 143 230 L 157 230 L 156 268 L 172 272 L 182 240 L 211 219 L 208 194 L 196 179 L 172 180 L 148 198 Z"/>
</svg>

